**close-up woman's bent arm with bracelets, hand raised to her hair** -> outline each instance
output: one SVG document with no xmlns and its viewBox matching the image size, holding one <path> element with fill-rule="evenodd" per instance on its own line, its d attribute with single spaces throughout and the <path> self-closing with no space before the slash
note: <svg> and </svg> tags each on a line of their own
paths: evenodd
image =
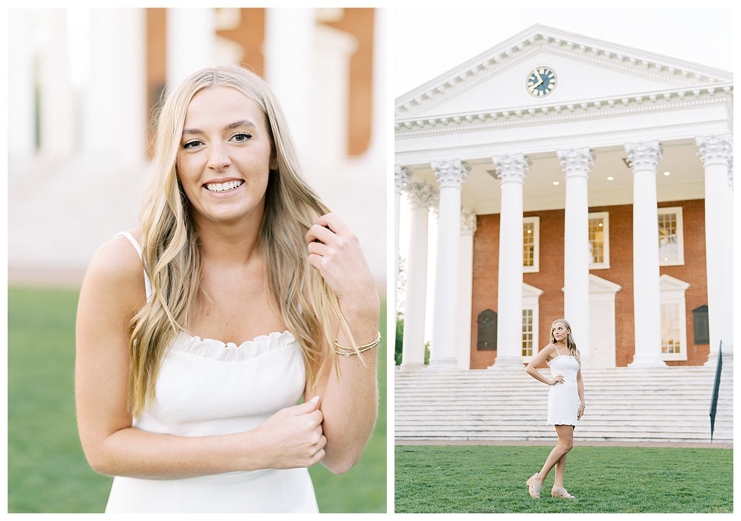
<svg viewBox="0 0 741 521">
<path fill-rule="evenodd" d="M 319 217 L 306 239 L 309 262 L 338 296 L 356 344 L 372 342 L 379 331 L 379 298 L 358 239 L 333 213 Z M 352 345 L 342 332 L 337 342 Z M 360 355 L 338 355 L 339 380 L 331 364 L 325 366 L 319 379 L 322 425 L 327 437 L 322 464 L 334 474 L 347 472 L 358 462 L 376 422 L 377 353 L 378 349 L 373 348 Z"/>
</svg>

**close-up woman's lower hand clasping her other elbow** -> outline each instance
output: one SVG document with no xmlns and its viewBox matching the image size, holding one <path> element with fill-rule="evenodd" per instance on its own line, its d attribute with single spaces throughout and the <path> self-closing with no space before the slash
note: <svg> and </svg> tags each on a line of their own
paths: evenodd
<svg viewBox="0 0 741 521">
<path fill-rule="evenodd" d="M 319 396 L 309 402 L 282 408 L 250 435 L 259 437 L 260 459 L 256 468 L 310 467 L 325 456 L 327 438 L 322 433 L 324 416 Z M 253 442 L 250 442 L 250 447 Z"/>
</svg>

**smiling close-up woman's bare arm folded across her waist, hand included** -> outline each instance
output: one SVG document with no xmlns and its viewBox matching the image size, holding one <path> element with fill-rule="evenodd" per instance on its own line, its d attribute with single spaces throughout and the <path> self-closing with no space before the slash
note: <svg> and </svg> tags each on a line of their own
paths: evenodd
<svg viewBox="0 0 741 521">
<path fill-rule="evenodd" d="M 255 468 L 308 467 L 324 456 L 317 402 L 285 408 L 258 428 L 176 437 L 131 426 L 127 325 L 144 302 L 142 262 L 123 237 L 96 252 L 80 292 L 75 388 L 80 441 L 102 474 L 178 479 Z"/>
</svg>

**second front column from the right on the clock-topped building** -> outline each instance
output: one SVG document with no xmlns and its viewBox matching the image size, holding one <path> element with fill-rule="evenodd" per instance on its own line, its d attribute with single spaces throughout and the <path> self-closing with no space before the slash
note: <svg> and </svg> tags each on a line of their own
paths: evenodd
<svg viewBox="0 0 741 521">
<path fill-rule="evenodd" d="M 665 367 L 661 358 L 659 222 L 656 169 L 658 141 L 625 145 L 633 169 L 633 309 L 635 354 L 628 367 Z"/>
</svg>

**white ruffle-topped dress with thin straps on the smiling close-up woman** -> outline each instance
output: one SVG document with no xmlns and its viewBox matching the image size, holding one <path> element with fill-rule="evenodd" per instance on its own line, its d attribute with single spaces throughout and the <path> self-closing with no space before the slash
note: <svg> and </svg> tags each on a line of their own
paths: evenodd
<svg viewBox="0 0 741 521">
<path fill-rule="evenodd" d="M 121 235 L 141 256 L 136 240 Z M 288 331 L 240 345 L 180 333 L 162 360 L 155 401 L 132 426 L 173 436 L 250 431 L 296 405 L 305 382 L 301 345 Z M 186 479 L 114 477 L 105 511 L 316 513 L 319 508 L 307 468 L 267 468 Z"/>
</svg>

